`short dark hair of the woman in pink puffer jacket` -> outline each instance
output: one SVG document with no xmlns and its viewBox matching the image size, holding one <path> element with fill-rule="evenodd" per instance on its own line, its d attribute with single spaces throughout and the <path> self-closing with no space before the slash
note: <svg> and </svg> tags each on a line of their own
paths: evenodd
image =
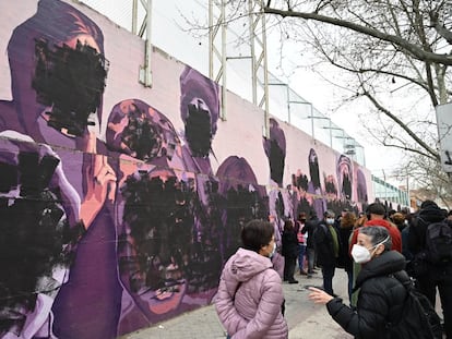
<svg viewBox="0 0 452 339">
<path fill-rule="evenodd" d="M 264 220 L 251 220 L 241 229 L 241 242 L 245 250 L 259 253 L 272 240 L 273 225 Z"/>
</svg>

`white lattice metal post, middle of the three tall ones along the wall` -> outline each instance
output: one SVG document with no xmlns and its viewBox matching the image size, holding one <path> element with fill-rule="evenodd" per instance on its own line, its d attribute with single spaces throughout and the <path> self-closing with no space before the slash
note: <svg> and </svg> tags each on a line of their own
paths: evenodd
<svg viewBox="0 0 452 339">
<path fill-rule="evenodd" d="M 219 14 L 218 14 L 219 13 Z M 221 48 L 216 46 L 218 31 L 221 29 Z M 209 0 L 209 77 L 219 83 L 222 81 L 222 109 L 219 118 L 226 120 L 226 1 Z M 218 70 L 215 65 L 219 63 Z"/>
</svg>

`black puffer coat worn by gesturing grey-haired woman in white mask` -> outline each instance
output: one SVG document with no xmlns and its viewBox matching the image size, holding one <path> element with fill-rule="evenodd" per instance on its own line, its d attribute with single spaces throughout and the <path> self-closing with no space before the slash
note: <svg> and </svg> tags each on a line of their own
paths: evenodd
<svg viewBox="0 0 452 339">
<path fill-rule="evenodd" d="M 405 287 L 393 276 L 409 279 L 403 270 L 405 257 L 396 251 L 383 252 L 362 265 L 356 286 L 360 288 L 357 311 L 346 306 L 340 298 L 326 304 L 333 319 L 358 339 L 388 339 L 385 325 L 392 315 L 401 314 L 406 298 Z"/>
</svg>

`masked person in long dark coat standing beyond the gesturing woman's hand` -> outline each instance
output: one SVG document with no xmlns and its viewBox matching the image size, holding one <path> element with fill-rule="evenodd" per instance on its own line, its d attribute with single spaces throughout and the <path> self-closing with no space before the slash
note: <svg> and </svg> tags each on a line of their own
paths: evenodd
<svg viewBox="0 0 452 339">
<path fill-rule="evenodd" d="M 326 210 L 314 232 L 317 263 L 322 267 L 323 288 L 331 295 L 334 295 L 333 277 L 340 252 L 340 239 L 334 221 L 334 213 Z"/>
</svg>

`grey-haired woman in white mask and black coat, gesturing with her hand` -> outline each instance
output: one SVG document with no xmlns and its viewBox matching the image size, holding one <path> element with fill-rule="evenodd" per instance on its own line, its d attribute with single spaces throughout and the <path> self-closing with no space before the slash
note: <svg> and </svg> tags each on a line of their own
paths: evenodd
<svg viewBox="0 0 452 339">
<path fill-rule="evenodd" d="M 389 339 L 386 328 L 391 315 L 401 314 L 407 295 L 405 287 L 393 275 L 407 281 L 403 270 L 405 258 L 396 251 L 390 251 L 392 240 L 384 227 L 362 227 L 358 242 L 353 250 L 355 262 L 362 264 L 356 280 L 360 288 L 356 310 L 345 305 L 342 299 L 324 291 L 310 288 L 309 299 L 325 304 L 333 319 L 355 338 Z"/>
</svg>

